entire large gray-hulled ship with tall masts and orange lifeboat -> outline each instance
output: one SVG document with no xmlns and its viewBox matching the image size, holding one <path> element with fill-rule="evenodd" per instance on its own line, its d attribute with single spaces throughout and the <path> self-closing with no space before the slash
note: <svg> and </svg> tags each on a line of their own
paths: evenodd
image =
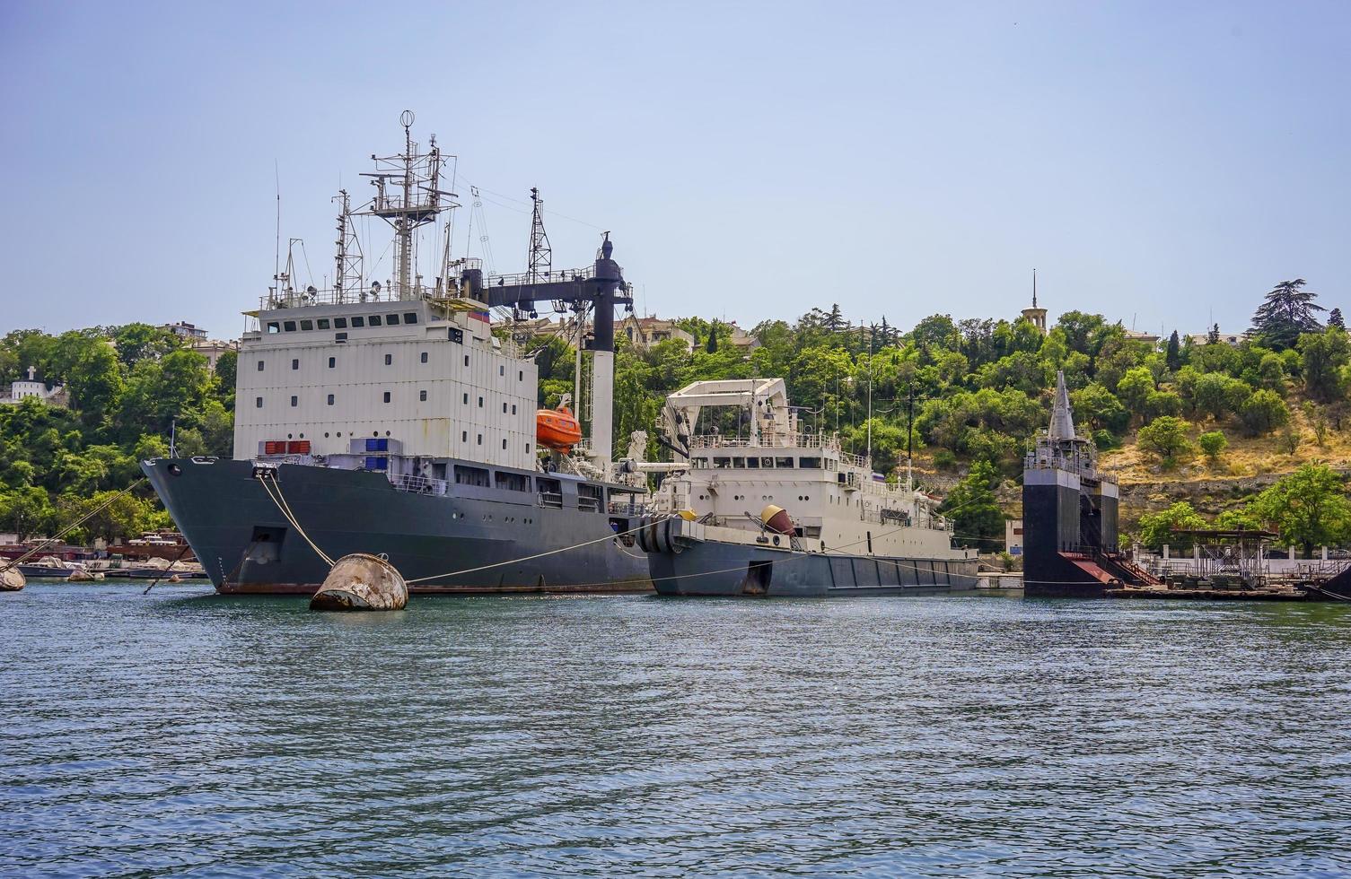
<svg viewBox="0 0 1351 879">
<path fill-rule="evenodd" d="M 385 554 L 413 593 L 650 590 L 627 533 L 646 482 L 609 460 L 613 315 L 632 297 L 608 234 L 588 269 L 553 269 L 532 192 L 526 273 L 451 259 L 438 220 L 458 207 L 450 158 L 435 136 L 413 142 L 412 113 L 401 122 L 404 150 L 373 157 L 370 201 L 353 209 L 339 193 L 332 285 L 297 289 L 288 261 L 247 312 L 232 459 L 143 471 L 222 593 L 312 594 L 328 572 L 316 550 Z M 363 270 L 358 217 L 392 228 L 384 285 Z M 589 440 L 566 409 L 538 409 L 535 362 L 509 324 L 493 332 L 494 315 L 534 316 L 536 302 L 582 327 L 590 315 Z"/>
</svg>

